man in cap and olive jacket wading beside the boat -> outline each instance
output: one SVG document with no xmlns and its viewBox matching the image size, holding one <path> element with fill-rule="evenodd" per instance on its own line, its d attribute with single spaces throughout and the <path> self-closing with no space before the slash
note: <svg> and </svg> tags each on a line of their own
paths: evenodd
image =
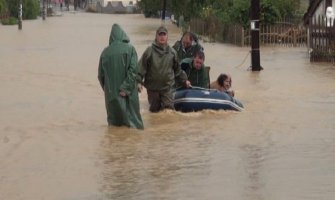
<svg viewBox="0 0 335 200">
<path fill-rule="evenodd" d="M 139 61 L 139 91 L 142 91 L 142 85 L 147 89 L 151 112 L 174 109 L 175 79 L 185 87 L 190 86 L 186 74 L 180 69 L 176 51 L 168 44 L 168 31 L 161 26 L 156 31 L 155 41 Z"/>
</svg>

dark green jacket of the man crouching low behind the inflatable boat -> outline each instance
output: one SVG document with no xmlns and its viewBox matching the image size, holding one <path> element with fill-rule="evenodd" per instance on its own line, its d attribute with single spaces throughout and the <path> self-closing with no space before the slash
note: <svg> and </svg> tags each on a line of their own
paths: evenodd
<svg viewBox="0 0 335 200">
<path fill-rule="evenodd" d="M 192 86 L 209 88 L 208 74 L 205 69 L 205 65 L 202 65 L 200 69 L 196 69 L 193 66 L 192 58 L 185 58 L 181 61 L 181 69 L 187 74 L 188 80 Z"/>
</svg>

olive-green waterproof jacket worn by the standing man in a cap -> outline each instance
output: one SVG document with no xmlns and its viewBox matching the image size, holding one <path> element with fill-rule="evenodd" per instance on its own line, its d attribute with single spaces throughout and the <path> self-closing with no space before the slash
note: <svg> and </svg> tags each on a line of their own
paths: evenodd
<svg viewBox="0 0 335 200">
<path fill-rule="evenodd" d="M 175 86 L 175 79 L 180 83 L 187 80 L 176 51 L 169 45 L 161 46 L 156 42 L 144 51 L 139 61 L 138 75 L 138 81 L 152 91 L 171 90 Z"/>
</svg>

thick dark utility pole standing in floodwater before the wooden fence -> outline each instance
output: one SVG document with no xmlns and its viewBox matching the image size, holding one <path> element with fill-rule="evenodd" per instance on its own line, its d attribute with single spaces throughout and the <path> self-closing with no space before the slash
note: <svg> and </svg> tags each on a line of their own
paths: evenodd
<svg viewBox="0 0 335 200">
<path fill-rule="evenodd" d="M 260 52 L 259 52 L 259 0 L 251 0 L 251 70 L 261 71 L 263 67 L 260 65 Z"/>
</svg>

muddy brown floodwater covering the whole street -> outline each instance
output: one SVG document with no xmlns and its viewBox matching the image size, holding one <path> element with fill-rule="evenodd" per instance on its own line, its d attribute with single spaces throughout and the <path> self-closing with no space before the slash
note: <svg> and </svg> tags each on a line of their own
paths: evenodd
<svg viewBox="0 0 335 200">
<path fill-rule="evenodd" d="M 161 21 L 64 13 L 0 25 L 1 200 L 331 200 L 335 66 L 306 48 L 203 43 L 211 80 L 232 75 L 243 112 L 150 113 L 107 126 L 98 60 L 113 23 L 140 57 Z M 167 23 L 169 43 L 180 39 Z M 247 57 L 248 56 L 248 57 Z M 244 58 L 246 58 L 244 61 Z"/>
</svg>

